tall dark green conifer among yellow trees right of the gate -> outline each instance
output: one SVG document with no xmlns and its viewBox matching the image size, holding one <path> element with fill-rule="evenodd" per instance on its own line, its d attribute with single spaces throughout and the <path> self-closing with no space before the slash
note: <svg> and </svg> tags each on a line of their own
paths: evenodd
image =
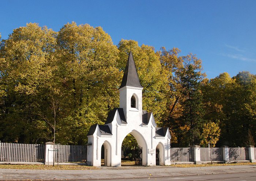
<svg viewBox="0 0 256 181">
<path fill-rule="evenodd" d="M 188 58 L 188 59 L 187 59 Z M 192 55 L 188 55 L 185 60 L 188 63 L 191 62 Z M 197 59 L 195 59 L 197 61 Z M 186 63 L 187 64 L 187 63 Z M 200 128 L 204 120 L 203 117 L 203 104 L 202 104 L 202 94 L 200 90 L 200 81 L 203 75 L 195 71 L 195 66 L 190 63 L 178 73 L 178 77 L 182 82 L 182 96 L 185 98 L 181 105 L 183 107 L 182 116 L 180 121 L 184 125 L 189 125 L 189 130 L 186 133 L 185 140 L 186 144 L 195 145 L 199 143 Z"/>
</svg>

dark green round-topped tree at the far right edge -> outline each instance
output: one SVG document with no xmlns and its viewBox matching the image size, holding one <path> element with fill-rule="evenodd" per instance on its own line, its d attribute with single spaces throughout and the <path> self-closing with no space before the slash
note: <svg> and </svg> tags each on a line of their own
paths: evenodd
<svg viewBox="0 0 256 181">
<path fill-rule="evenodd" d="M 240 72 L 233 77 L 228 100 L 229 124 L 225 132 L 226 141 L 231 146 L 247 146 L 250 132 L 253 133 L 254 140 L 256 135 L 256 76 L 249 72 Z"/>
</svg>

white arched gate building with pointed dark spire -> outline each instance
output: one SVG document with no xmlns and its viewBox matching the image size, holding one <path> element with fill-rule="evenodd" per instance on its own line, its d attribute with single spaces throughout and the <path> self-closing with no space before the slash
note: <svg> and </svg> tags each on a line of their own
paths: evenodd
<svg viewBox="0 0 256 181">
<path fill-rule="evenodd" d="M 121 166 L 121 146 L 130 133 L 142 147 L 142 165 L 170 165 L 170 131 L 158 128 L 152 112 L 142 110 L 142 89 L 132 53 L 129 53 L 123 80 L 119 88 L 120 108 L 109 112 L 104 125 L 94 124 L 87 134 L 87 163 L 101 166 L 101 147 L 104 146 L 106 166 Z"/>
</svg>

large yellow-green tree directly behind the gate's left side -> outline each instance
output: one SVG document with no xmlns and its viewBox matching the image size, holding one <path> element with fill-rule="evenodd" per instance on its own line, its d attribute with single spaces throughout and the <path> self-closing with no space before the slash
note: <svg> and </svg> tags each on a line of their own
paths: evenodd
<svg viewBox="0 0 256 181">
<path fill-rule="evenodd" d="M 118 105 L 121 73 L 116 68 L 118 49 L 101 27 L 68 23 L 57 35 L 58 72 L 63 94 L 61 125 L 57 140 L 83 144 L 92 124 L 105 122 Z"/>
</svg>

